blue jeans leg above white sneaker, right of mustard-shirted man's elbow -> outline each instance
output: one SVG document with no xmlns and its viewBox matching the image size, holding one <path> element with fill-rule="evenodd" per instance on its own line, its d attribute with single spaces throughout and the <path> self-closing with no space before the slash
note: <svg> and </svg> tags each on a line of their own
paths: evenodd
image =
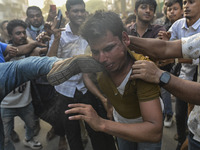
<svg viewBox="0 0 200 150">
<path fill-rule="evenodd" d="M 171 102 L 171 94 L 165 90 L 164 88 L 161 88 L 161 97 L 164 103 L 164 115 L 173 115 L 172 112 L 172 102 Z"/>
</svg>

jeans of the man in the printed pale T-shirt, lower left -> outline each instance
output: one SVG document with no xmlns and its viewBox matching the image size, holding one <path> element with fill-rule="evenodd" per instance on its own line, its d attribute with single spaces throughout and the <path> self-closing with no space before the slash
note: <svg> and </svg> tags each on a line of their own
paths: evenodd
<svg viewBox="0 0 200 150">
<path fill-rule="evenodd" d="M 34 136 L 34 109 L 32 103 L 21 108 L 1 108 L 1 118 L 5 134 L 5 150 L 15 150 L 10 134 L 13 130 L 13 119 L 19 116 L 26 125 L 26 139 L 31 140 Z"/>
</svg>

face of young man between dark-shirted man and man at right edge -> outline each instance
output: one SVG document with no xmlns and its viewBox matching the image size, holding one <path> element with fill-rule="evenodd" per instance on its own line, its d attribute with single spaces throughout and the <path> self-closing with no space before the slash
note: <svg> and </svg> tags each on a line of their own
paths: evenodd
<svg viewBox="0 0 200 150">
<path fill-rule="evenodd" d="M 176 20 L 182 18 L 183 9 L 179 3 L 174 3 L 172 6 L 167 7 L 167 18 L 171 23 L 174 23 Z"/>
</svg>

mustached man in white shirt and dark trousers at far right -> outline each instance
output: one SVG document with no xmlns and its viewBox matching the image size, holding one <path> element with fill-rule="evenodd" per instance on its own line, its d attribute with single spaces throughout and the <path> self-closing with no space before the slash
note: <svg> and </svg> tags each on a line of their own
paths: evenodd
<svg viewBox="0 0 200 150">
<path fill-rule="evenodd" d="M 200 32 L 200 1 L 183 0 L 184 17 L 177 20 L 169 29 L 170 40 L 177 40 Z M 199 60 L 189 60 L 189 63 L 182 63 L 179 77 L 185 80 L 195 80 L 193 78 Z M 176 125 L 178 134 L 177 150 L 186 139 L 187 103 L 181 99 L 176 99 Z"/>
</svg>

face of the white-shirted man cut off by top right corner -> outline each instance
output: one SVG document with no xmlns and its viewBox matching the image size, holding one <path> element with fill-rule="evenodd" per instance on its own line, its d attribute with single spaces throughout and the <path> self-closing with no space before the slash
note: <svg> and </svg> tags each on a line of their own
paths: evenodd
<svg viewBox="0 0 200 150">
<path fill-rule="evenodd" d="M 200 0 L 183 0 L 183 12 L 187 19 L 198 20 L 200 17 Z"/>
</svg>

